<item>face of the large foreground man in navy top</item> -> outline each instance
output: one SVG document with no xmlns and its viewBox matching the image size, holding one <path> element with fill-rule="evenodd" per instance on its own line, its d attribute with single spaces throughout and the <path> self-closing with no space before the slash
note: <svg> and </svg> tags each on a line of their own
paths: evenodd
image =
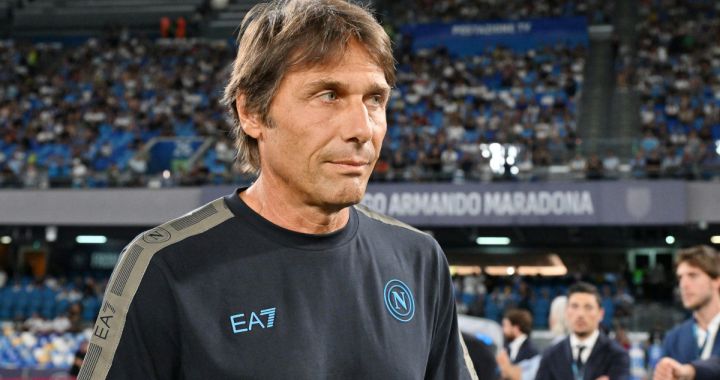
<svg viewBox="0 0 720 380">
<path fill-rule="evenodd" d="M 323 210 L 360 202 L 387 129 L 390 86 L 356 41 L 326 66 L 289 72 L 258 137 L 261 176 Z"/>
</svg>

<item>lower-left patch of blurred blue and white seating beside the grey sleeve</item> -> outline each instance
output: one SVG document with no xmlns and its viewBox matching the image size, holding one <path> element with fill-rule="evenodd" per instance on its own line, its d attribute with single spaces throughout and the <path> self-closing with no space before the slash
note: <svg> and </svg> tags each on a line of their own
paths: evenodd
<svg viewBox="0 0 720 380">
<path fill-rule="evenodd" d="M 33 279 L 0 272 L 0 368 L 73 366 L 97 318 L 107 278 L 48 276 Z"/>
</svg>

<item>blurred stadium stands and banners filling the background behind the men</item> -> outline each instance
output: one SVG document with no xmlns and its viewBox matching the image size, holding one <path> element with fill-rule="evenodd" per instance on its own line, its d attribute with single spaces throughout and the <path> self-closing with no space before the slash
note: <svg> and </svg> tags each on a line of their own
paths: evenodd
<svg viewBox="0 0 720 380">
<path fill-rule="evenodd" d="M 222 99 L 260 2 L 0 0 L 0 378 L 75 378 L 128 243 L 253 183 Z M 362 205 L 437 240 L 463 333 L 502 350 L 520 308 L 548 347 L 584 281 L 652 379 L 678 251 L 720 247 L 720 3 L 369 5 L 397 82 Z"/>
</svg>

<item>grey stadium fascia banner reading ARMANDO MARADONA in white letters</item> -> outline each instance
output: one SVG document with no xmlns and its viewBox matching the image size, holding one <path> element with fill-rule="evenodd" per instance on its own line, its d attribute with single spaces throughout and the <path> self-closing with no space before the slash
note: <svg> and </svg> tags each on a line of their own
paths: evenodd
<svg viewBox="0 0 720 380">
<path fill-rule="evenodd" d="M 371 184 L 362 203 L 415 226 L 683 224 L 681 181 Z"/>
</svg>

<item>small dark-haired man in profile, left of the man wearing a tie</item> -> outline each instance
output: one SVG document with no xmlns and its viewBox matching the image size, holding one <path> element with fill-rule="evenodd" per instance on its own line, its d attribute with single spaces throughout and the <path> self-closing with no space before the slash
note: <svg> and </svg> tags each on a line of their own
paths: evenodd
<svg viewBox="0 0 720 380">
<path fill-rule="evenodd" d="M 505 349 L 513 364 L 537 355 L 537 348 L 530 341 L 532 315 L 524 309 L 509 309 L 502 319 Z"/>
</svg>

